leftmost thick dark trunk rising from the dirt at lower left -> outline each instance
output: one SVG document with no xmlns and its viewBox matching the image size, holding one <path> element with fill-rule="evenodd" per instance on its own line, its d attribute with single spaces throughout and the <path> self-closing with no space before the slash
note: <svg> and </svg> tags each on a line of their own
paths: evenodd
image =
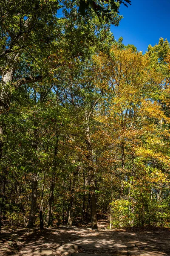
<svg viewBox="0 0 170 256">
<path fill-rule="evenodd" d="M 31 209 L 27 227 L 35 227 L 35 215 L 37 208 L 37 175 L 32 180 Z"/>
</svg>

